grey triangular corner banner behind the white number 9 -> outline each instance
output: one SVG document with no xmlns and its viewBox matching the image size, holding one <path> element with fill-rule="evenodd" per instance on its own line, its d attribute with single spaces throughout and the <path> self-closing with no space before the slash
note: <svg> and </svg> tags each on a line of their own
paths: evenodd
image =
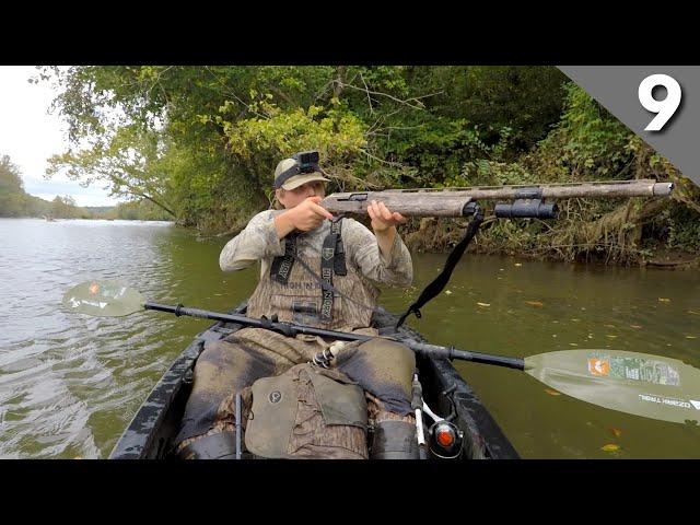
<svg viewBox="0 0 700 525">
<path fill-rule="evenodd" d="M 559 66 L 559 69 L 700 186 L 699 66 Z M 655 113 L 640 102 L 640 84 L 652 74 L 668 75 L 680 85 L 680 104 L 658 131 L 644 130 Z M 646 88 L 651 85 L 653 82 L 645 83 Z M 669 95 L 665 88 L 655 90 L 655 101 L 669 101 L 665 98 Z"/>
</svg>

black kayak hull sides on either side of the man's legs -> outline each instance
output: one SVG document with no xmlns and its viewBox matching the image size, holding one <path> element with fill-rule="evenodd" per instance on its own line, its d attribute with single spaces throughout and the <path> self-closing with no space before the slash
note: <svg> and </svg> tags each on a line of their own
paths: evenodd
<svg viewBox="0 0 700 525">
<path fill-rule="evenodd" d="M 244 314 L 245 303 L 231 313 Z M 374 313 L 372 325 L 383 336 L 425 341 L 416 330 L 401 326 L 394 331 L 396 316 L 384 308 Z M 197 335 L 153 387 L 119 438 L 109 459 L 172 458 L 173 439 L 179 429 L 185 405 L 191 392 L 197 358 L 207 341 L 222 339 L 243 328 L 240 324 L 218 322 Z M 417 354 L 423 400 L 439 418 L 451 416 L 462 434 L 456 459 L 511 459 L 518 454 L 483 404 L 447 359 Z M 423 416 L 425 430 L 432 423 Z M 430 458 L 436 457 L 429 454 Z"/>
</svg>

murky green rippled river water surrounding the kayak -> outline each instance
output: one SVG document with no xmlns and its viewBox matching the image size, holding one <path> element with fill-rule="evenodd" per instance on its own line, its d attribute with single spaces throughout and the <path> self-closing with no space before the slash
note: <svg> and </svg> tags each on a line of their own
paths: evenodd
<svg viewBox="0 0 700 525">
<path fill-rule="evenodd" d="M 120 278 L 152 301 L 225 311 L 252 293 L 258 271 L 222 273 L 225 242 L 198 242 L 167 223 L 0 219 L 0 457 L 106 457 L 163 372 L 208 326 L 154 312 L 66 313 L 67 289 Z M 444 260 L 415 256 L 416 287 Z M 467 256 L 448 290 L 410 320 L 435 343 L 513 357 L 617 348 L 700 368 L 698 271 Z M 398 312 L 417 292 L 386 290 L 382 303 Z M 517 371 L 457 369 L 523 457 L 700 457 L 697 428 L 553 396 Z"/>
</svg>

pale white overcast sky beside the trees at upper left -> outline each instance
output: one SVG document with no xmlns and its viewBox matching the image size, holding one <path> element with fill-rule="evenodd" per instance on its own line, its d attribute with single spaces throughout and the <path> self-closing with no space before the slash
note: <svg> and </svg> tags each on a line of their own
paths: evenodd
<svg viewBox="0 0 700 525">
<path fill-rule="evenodd" d="M 46 179 L 47 160 L 68 150 L 67 125 L 58 112 L 48 114 L 57 93 L 46 82 L 30 84 L 34 66 L 0 66 L 0 156 L 9 155 L 20 168 L 24 190 L 52 200 L 70 195 L 78 206 L 114 206 L 118 201 L 103 189 L 104 183 L 82 188 L 65 175 Z"/>
</svg>

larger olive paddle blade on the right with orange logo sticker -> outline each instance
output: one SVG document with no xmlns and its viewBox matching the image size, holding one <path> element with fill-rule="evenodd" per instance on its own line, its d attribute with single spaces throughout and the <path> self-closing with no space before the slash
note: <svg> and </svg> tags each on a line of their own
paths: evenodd
<svg viewBox="0 0 700 525">
<path fill-rule="evenodd" d="M 700 370 L 622 350 L 563 350 L 525 359 L 525 372 L 576 399 L 675 423 L 700 421 Z"/>
</svg>

